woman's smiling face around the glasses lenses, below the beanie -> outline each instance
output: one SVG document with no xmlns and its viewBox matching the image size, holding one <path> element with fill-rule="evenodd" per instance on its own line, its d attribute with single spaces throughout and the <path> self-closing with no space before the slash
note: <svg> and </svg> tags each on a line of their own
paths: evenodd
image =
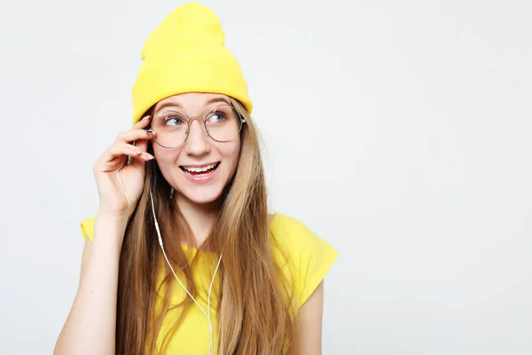
<svg viewBox="0 0 532 355">
<path fill-rule="evenodd" d="M 177 199 L 195 204 L 215 202 L 234 175 L 239 162 L 240 135 L 219 142 L 207 134 L 203 123 L 212 108 L 229 103 L 225 95 L 184 93 L 163 99 L 155 106 L 153 122 L 170 110 L 192 118 L 183 145 L 165 148 L 153 142 L 160 171 L 176 190 Z"/>
</svg>

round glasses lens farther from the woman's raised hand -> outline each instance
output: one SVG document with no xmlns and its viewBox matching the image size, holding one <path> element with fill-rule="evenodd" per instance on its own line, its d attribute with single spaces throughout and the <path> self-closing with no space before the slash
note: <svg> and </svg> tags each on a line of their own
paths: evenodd
<svg viewBox="0 0 532 355">
<path fill-rule="evenodd" d="M 227 142 L 237 137 L 242 122 L 239 113 L 229 105 L 215 106 L 205 118 L 207 133 L 211 138 Z"/>
</svg>

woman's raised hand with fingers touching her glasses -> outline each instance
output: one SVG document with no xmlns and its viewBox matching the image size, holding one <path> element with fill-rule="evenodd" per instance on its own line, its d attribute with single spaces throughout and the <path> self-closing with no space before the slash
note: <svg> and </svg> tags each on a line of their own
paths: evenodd
<svg viewBox="0 0 532 355">
<path fill-rule="evenodd" d="M 114 143 L 94 164 L 98 185 L 98 215 L 129 218 L 144 188 L 145 162 L 153 159 L 146 152 L 150 133 L 145 130 L 151 117 L 145 116 L 130 130 L 118 135 Z M 135 141 L 135 146 L 132 143 Z M 132 162 L 128 164 L 128 157 Z"/>
</svg>

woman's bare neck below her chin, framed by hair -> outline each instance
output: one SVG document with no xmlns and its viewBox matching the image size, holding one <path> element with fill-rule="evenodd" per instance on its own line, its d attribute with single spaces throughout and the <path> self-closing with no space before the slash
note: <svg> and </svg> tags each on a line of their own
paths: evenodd
<svg viewBox="0 0 532 355">
<path fill-rule="evenodd" d="M 199 247 L 207 240 L 207 236 L 215 224 L 221 207 L 220 203 L 198 204 L 179 195 L 176 196 L 176 202 L 184 219 L 192 229 L 195 244 L 193 247 Z"/>
</svg>

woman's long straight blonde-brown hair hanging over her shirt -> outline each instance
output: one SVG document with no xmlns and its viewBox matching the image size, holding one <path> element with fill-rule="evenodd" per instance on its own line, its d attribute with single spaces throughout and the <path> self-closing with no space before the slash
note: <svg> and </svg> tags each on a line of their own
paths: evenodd
<svg viewBox="0 0 532 355">
<path fill-rule="evenodd" d="M 293 341 L 293 289 L 272 255 L 273 241 L 268 226 L 267 194 L 257 131 L 246 109 L 231 99 L 245 119 L 240 137 L 241 149 L 235 175 L 225 187 L 219 217 L 207 241 L 194 260 L 205 250 L 220 252 L 222 290 L 218 297 L 218 353 L 278 355 L 288 351 Z M 153 153 L 153 147 L 149 150 Z M 162 177 L 156 162 L 146 163 L 144 191 L 126 229 L 121 249 L 116 316 L 116 353 L 153 354 L 155 340 L 168 308 L 171 287 L 162 302 L 163 312 L 153 317 L 160 270 L 161 252 L 153 226 L 150 188 L 165 250 L 174 269 L 184 273 L 186 287 L 196 296 L 192 267 L 181 246 L 192 240 L 192 231 L 170 196 L 171 186 Z M 169 235 L 173 237 L 168 237 Z M 175 236 L 178 235 L 179 238 Z M 163 283 L 173 274 L 166 266 Z M 186 297 L 181 312 L 164 337 L 163 346 L 192 306 Z"/>
</svg>

